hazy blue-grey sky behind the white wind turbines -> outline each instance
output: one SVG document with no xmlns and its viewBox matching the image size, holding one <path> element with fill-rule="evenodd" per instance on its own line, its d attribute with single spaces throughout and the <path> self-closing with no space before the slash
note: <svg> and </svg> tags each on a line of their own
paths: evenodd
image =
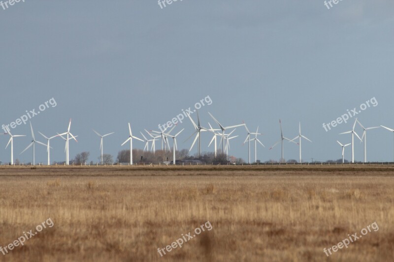
<svg viewBox="0 0 394 262">
<path fill-rule="evenodd" d="M 322 125 L 347 109 L 375 97 L 378 106 L 362 111 L 361 123 L 394 128 L 393 10 L 392 0 L 343 0 L 329 10 L 323 0 L 178 0 L 163 9 L 156 0 L 21 1 L 0 7 L 0 122 L 54 97 L 56 107 L 32 118 L 36 138 L 37 131 L 65 132 L 72 118 L 79 143 L 70 143 L 70 158 L 90 151 L 97 161 L 92 128 L 116 132 L 104 141 L 116 158 L 128 149 L 120 146 L 128 122 L 135 135 L 157 130 L 209 95 L 212 104 L 199 111 L 202 124 L 213 124 L 210 112 L 224 125 L 245 121 L 251 131 L 259 125 L 262 161 L 280 158 L 280 146 L 268 150 L 280 138 L 279 118 L 286 137 L 297 135 L 301 121 L 313 141 L 303 143 L 304 161 L 338 159 L 335 141 L 350 143 L 350 135 L 338 134 L 352 124 L 328 132 Z M 189 148 L 192 140 L 182 142 L 193 126 L 187 119 L 174 132 L 181 128 L 178 146 Z M 29 125 L 11 132 L 27 135 L 14 140 L 14 158 L 30 162 L 31 150 L 19 155 L 31 141 Z M 230 155 L 247 159 L 244 128 L 234 134 L 240 137 Z M 210 139 L 203 134 L 202 151 L 213 150 Z M 2 162 L 10 161 L 7 142 L 0 136 Z M 63 141 L 52 146 L 52 160 L 64 161 Z M 357 142 L 356 160 L 362 150 Z M 368 160 L 393 161 L 393 154 L 393 133 L 371 130 Z M 286 143 L 285 159 L 298 159 L 296 145 Z M 36 162 L 45 161 L 45 148 L 36 146 Z"/>
</svg>

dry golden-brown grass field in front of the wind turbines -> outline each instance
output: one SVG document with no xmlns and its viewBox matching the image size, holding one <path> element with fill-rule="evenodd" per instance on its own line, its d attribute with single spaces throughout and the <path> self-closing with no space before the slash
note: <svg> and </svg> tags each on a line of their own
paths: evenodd
<svg viewBox="0 0 394 262">
<path fill-rule="evenodd" d="M 1 167 L 0 261 L 393 261 L 393 166 Z M 205 231 L 161 257 L 182 234 Z M 327 257 L 323 248 L 376 222 Z"/>
</svg>

